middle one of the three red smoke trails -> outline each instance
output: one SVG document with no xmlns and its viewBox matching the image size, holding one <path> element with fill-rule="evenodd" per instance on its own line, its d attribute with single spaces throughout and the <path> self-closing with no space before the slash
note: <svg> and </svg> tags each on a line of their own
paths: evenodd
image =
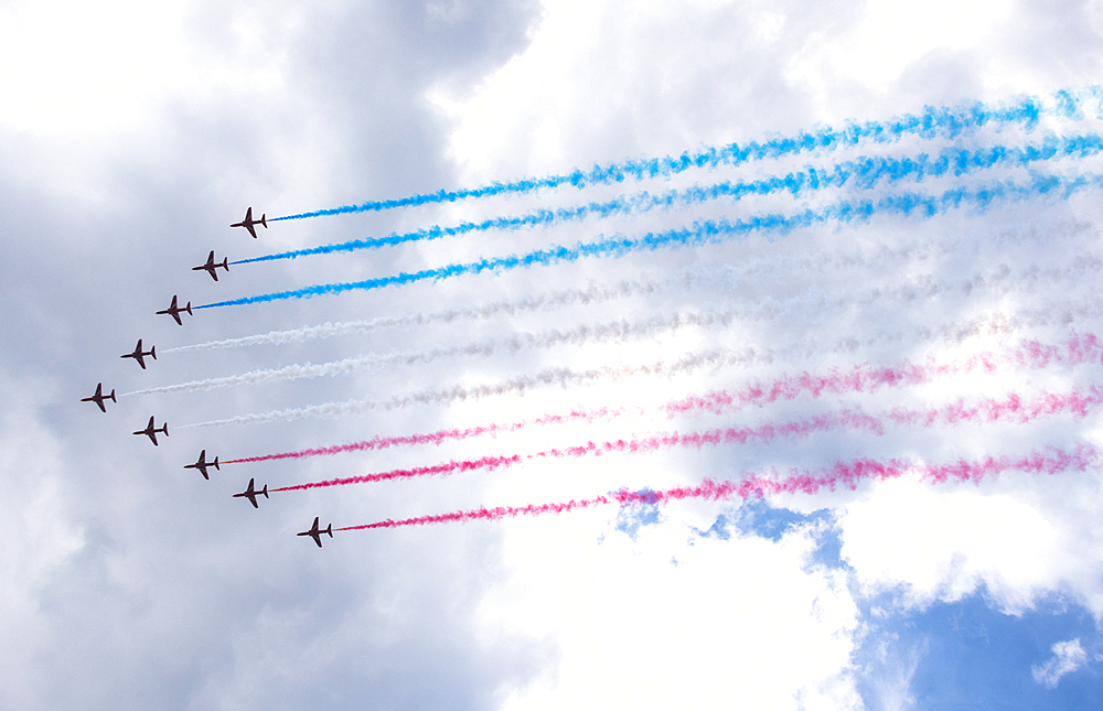
<svg viewBox="0 0 1103 711">
<path fill-rule="evenodd" d="M 323 488 L 329 486 L 344 486 L 346 484 L 367 484 L 372 482 L 385 482 L 396 478 L 413 478 L 417 476 L 448 475 L 454 472 L 471 472 L 475 470 L 495 470 L 500 466 L 512 466 L 525 460 L 532 459 L 561 459 L 567 456 L 580 457 L 588 454 L 600 456 L 610 452 L 653 452 L 660 449 L 671 449 L 675 446 L 697 448 L 716 446 L 719 444 L 747 444 L 751 441 L 768 442 L 779 437 L 807 437 L 812 432 L 825 432 L 834 429 L 849 428 L 854 430 L 867 430 L 875 434 L 885 433 L 886 421 L 895 424 L 936 427 L 949 424 L 961 424 L 962 422 L 1013 422 L 1026 424 L 1035 419 L 1046 416 L 1058 414 L 1060 412 L 1071 412 L 1077 418 L 1088 416 L 1090 408 L 1103 405 L 1103 388 L 1092 386 L 1091 392 L 1086 396 L 1080 390 L 1072 390 L 1069 394 L 1047 392 L 1035 400 L 1024 401 L 1016 394 L 1008 395 L 1005 399 L 996 400 L 986 398 L 976 405 L 966 406 L 964 400 L 959 400 L 942 408 L 929 410 L 906 410 L 895 408 L 888 414 L 874 416 L 861 410 L 839 410 L 827 412 L 805 420 L 795 422 L 768 422 L 757 428 L 727 428 L 706 430 L 704 432 L 664 432 L 645 438 L 629 438 L 627 440 L 615 440 L 596 444 L 587 442 L 566 449 L 550 449 L 532 454 L 513 454 L 508 456 L 484 456 L 478 460 L 451 461 L 431 466 L 416 466 L 411 468 L 392 470 L 378 474 L 366 474 L 363 476 L 349 476 L 344 478 L 326 480 L 324 482 L 312 482 L 296 486 L 283 486 L 274 488 L 272 492 L 290 492 L 307 488 Z"/>
</svg>

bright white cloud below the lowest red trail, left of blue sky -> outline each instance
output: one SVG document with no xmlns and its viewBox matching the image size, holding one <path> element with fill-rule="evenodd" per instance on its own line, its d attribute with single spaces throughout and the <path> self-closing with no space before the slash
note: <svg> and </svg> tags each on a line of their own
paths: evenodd
<svg viewBox="0 0 1103 711">
<path fill-rule="evenodd" d="M 861 708 L 845 573 L 808 568 L 807 527 L 779 542 L 695 538 L 709 510 L 671 505 L 634 540 L 608 509 L 503 524 L 507 574 L 483 600 L 482 635 L 523 634 L 556 657 L 502 708 Z"/>
</svg>

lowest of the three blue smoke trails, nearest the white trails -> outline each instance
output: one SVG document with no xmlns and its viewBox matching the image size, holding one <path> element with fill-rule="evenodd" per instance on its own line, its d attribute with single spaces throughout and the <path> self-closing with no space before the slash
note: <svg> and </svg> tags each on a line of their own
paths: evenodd
<svg viewBox="0 0 1103 711">
<path fill-rule="evenodd" d="M 1009 201 L 1022 201 L 1041 195 L 1058 195 L 1068 198 L 1085 188 L 1103 187 L 1103 175 L 1088 174 L 1072 179 L 1061 179 L 1053 175 L 1035 174 L 1030 185 L 1018 185 L 1014 182 L 993 182 L 977 190 L 954 188 L 939 196 L 924 193 L 907 192 L 898 195 L 887 195 L 875 204 L 872 201 L 839 202 L 822 211 L 804 209 L 789 217 L 784 215 L 760 215 L 747 219 L 730 222 L 704 220 L 695 222 L 693 227 L 670 229 L 661 233 L 647 233 L 643 237 L 613 237 L 592 243 L 579 243 L 575 247 L 555 245 L 548 249 L 537 249 L 524 256 L 510 255 L 493 259 L 481 259 L 467 265 L 447 265 L 436 269 L 392 277 L 366 279 L 336 284 L 318 284 L 292 291 L 281 291 L 256 297 L 244 297 L 229 301 L 192 306 L 193 309 L 213 309 L 215 306 L 237 306 L 250 303 L 280 301 L 285 299 L 302 299 L 326 293 L 341 293 L 353 290 L 372 290 L 383 287 L 403 286 L 427 279 L 441 280 L 463 274 L 478 274 L 484 271 L 501 273 L 518 267 L 533 265 L 549 266 L 565 261 L 577 261 L 583 257 L 623 257 L 630 252 L 654 251 L 660 248 L 696 247 L 715 244 L 732 237 L 746 237 L 750 233 L 761 231 L 767 239 L 773 241 L 772 235 L 785 235 L 793 229 L 810 227 L 825 223 L 848 224 L 865 222 L 878 213 L 890 215 L 918 215 L 931 218 L 950 209 L 959 209 L 966 205 L 984 212 L 990 205 Z"/>
</svg>

